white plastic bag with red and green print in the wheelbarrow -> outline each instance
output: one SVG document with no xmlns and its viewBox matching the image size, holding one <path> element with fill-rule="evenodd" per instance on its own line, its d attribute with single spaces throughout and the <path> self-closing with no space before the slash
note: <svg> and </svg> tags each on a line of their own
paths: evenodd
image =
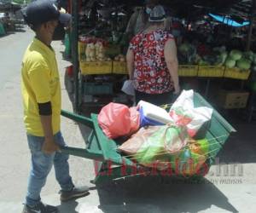
<svg viewBox="0 0 256 213">
<path fill-rule="evenodd" d="M 178 126 L 186 126 L 190 137 L 194 137 L 204 124 L 212 118 L 209 107 L 194 107 L 194 91 L 183 90 L 170 109 L 170 116 Z"/>
</svg>

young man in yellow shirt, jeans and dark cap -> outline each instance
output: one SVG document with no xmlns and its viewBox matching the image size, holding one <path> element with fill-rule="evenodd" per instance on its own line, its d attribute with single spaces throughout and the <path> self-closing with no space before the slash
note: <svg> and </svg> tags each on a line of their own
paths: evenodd
<svg viewBox="0 0 256 213">
<path fill-rule="evenodd" d="M 74 187 L 69 176 L 68 155 L 61 135 L 61 84 L 55 51 L 50 46 L 60 14 L 51 1 L 35 1 L 23 11 L 28 26 L 36 33 L 22 60 L 22 96 L 28 145 L 32 153 L 26 203 L 23 213 L 55 213 L 57 208 L 43 204 L 40 192 L 52 165 L 61 186 L 61 201 L 89 194 L 88 187 Z"/>
</svg>

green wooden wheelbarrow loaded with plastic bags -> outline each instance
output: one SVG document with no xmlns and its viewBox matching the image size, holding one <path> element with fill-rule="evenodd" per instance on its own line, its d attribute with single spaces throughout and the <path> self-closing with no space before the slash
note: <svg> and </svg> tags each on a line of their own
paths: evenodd
<svg viewBox="0 0 256 213">
<path fill-rule="evenodd" d="M 195 107 L 211 107 L 204 98 L 195 93 Z M 63 147 L 62 153 L 68 153 L 81 158 L 94 160 L 96 177 L 93 181 L 95 184 L 104 181 L 111 181 L 127 176 L 145 175 L 148 170 L 136 164 L 131 158 L 118 152 L 118 141 L 108 139 L 102 132 L 97 122 L 97 115 L 91 114 L 90 118 L 73 114 L 72 112 L 61 111 L 61 115 L 90 127 L 91 132 L 86 141 L 85 148 Z M 206 138 L 209 141 L 209 153 L 207 158 L 208 168 L 215 162 L 218 152 L 224 146 L 225 141 L 230 133 L 236 130 L 216 111 L 213 109 L 211 125 L 207 129 Z M 206 175 L 206 173 L 204 174 Z"/>
</svg>

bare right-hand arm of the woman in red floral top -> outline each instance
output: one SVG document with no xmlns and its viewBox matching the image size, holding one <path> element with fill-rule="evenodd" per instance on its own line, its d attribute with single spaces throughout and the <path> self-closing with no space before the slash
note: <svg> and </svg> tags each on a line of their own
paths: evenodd
<svg viewBox="0 0 256 213">
<path fill-rule="evenodd" d="M 175 94 L 180 92 L 178 74 L 177 74 L 177 48 L 174 40 L 170 39 L 166 42 L 165 46 L 165 59 L 167 68 L 171 74 L 174 83 Z"/>
</svg>

